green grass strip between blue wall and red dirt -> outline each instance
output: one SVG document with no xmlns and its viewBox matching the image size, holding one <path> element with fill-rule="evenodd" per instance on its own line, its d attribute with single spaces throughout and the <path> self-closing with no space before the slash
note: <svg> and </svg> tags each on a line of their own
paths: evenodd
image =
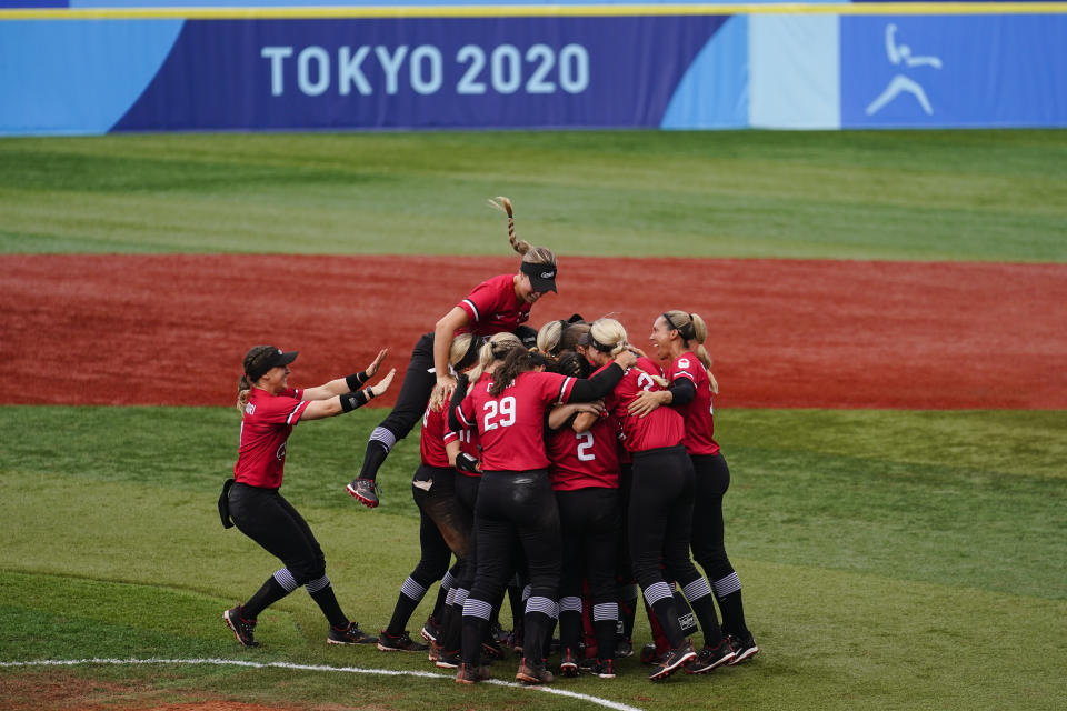
<svg viewBox="0 0 1067 711">
<path fill-rule="evenodd" d="M 3 139 L 0 251 L 1067 259 L 1061 131 Z"/>
</svg>

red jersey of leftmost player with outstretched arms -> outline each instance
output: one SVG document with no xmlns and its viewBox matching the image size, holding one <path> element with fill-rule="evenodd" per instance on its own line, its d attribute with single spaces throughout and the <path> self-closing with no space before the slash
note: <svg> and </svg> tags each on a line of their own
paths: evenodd
<svg viewBox="0 0 1067 711">
<path fill-rule="evenodd" d="M 241 447 L 233 479 L 252 487 L 277 489 L 286 468 L 286 442 L 310 402 L 300 400 L 303 390 L 288 388 L 272 395 L 252 388 L 241 418 Z"/>
</svg>

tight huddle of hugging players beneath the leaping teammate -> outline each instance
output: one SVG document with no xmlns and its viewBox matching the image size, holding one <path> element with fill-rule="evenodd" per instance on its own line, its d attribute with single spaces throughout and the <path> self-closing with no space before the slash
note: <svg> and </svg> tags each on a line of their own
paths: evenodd
<svg viewBox="0 0 1067 711">
<path fill-rule="evenodd" d="M 722 547 L 729 472 L 712 437 L 717 384 L 705 336 L 699 316 L 667 311 L 652 324 L 657 360 L 630 346 L 614 319 L 551 321 L 536 348 L 500 332 L 475 363 L 465 356 L 477 337 L 453 339 L 451 365 L 467 374 L 448 407 L 437 398 L 425 412 L 412 487 L 425 522 L 447 519 L 442 540 L 465 543 L 451 550 L 457 565 L 422 628 L 430 659 L 458 668 L 458 682 L 488 678 L 482 658 L 501 655 L 490 621 L 515 579 L 525 584 L 511 585 L 522 594 L 512 595 L 508 640 L 522 653 L 516 678 L 526 683 L 552 679 L 546 658 L 557 620 L 559 672 L 612 678 L 616 658 L 632 653 L 634 581 L 656 638 L 642 653 L 651 679 L 679 668 L 705 673 L 758 651 Z M 430 582 L 425 563 L 435 551 L 425 533 L 381 650 L 427 649 L 403 631 Z M 442 563 L 447 555 L 437 557 L 441 572 Z M 685 639 L 694 612 L 699 651 Z"/>
</svg>

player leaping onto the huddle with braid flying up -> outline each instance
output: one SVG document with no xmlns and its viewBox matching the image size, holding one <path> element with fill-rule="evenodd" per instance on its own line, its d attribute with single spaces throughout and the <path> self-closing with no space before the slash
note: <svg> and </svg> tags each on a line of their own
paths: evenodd
<svg viewBox="0 0 1067 711">
<path fill-rule="evenodd" d="M 470 332 L 486 338 L 509 331 L 528 341 L 527 346 L 535 344 L 536 331 L 522 324 L 530 318 L 530 307 L 545 293 L 556 291 L 556 256 L 547 248 L 532 247 L 518 239 L 511 201 L 497 200 L 500 202 L 490 202 L 507 213 L 508 239 L 522 256 L 519 271 L 493 277 L 475 287 L 437 322 L 432 333 L 423 334 L 416 343 L 397 403 L 371 432 L 359 477 L 348 484 L 348 492 L 368 508 L 378 505 L 378 470 L 397 440 L 407 437 L 422 417 L 431 393 L 433 403 L 443 405 L 456 389 L 456 377 L 448 367 L 448 353 L 456 334 Z"/>
</svg>

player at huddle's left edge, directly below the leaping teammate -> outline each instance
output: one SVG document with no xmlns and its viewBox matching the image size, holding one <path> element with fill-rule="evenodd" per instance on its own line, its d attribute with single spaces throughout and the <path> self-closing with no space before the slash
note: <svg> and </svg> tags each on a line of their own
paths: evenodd
<svg viewBox="0 0 1067 711">
<path fill-rule="evenodd" d="M 470 333 L 463 333 L 452 341 L 448 360 L 457 372 L 473 364 L 469 358 L 471 341 L 477 339 Z M 456 579 L 463 574 L 473 519 L 456 495 L 456 470 L 446 450 L 447 443 L 456 439 L 456 433 L 448 431 L 448 413 L 445 409 L 435 411 L 428 407 L 422 415 L 419 438 L 422 463 L 411 481 L 411 494 L 419 507 L 421 559 L 400 587 L 389 625 L 378 635 L 378 649 L 383 652 L 419 652 L 427 649 L 426 644 L 413 641 L 405 627 L 429 587 L 440 580 L 433 613 L 422 627 L 423 639 L 436 643 L 440 637 L 440 620 L 448 592 Z M 449 570 L 448 562 L 453 553 L 456 565 Z"/>
</svg>

